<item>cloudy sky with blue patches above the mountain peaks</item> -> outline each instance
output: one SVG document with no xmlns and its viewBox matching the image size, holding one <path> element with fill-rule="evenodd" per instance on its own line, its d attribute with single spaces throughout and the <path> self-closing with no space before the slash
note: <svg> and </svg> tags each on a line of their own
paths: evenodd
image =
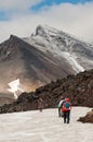
<svg viewBox="0 0 93 142">
<path fill-rule="evenodd" d="M 0 0 L 0 43 L 30 36 L 38 25 L 93 43 L 93 0 Z"/>
</svg>

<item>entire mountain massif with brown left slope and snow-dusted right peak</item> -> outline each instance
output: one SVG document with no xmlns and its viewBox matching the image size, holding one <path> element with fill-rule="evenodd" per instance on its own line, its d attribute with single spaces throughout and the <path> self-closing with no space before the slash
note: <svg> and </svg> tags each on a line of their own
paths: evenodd
<svg viewBox="0 0 93 142">
<path fill-rule="evenodd" d="M 13 98 L 8 83 L 16 79 L 21 80 L 19 87 L 29 92 L 92 68 L 91 45 L 55 28 L 39 25 L 30 37 L 12 35 L 0 44 L 0 96 L 4 94 L 6 100 L 8 97 Z"/>
</svg>

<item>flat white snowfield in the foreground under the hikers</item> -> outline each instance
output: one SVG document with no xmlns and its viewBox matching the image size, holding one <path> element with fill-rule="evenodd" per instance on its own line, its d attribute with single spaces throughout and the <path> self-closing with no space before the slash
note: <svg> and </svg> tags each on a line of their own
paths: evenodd
<svg viewBox="0 0 93 142">
<path fill-rule="evenodd" d="M 87 107 L 72 107 L 70 123 L 64 123 L 57 109 L 0 115 L 0 142 L 93 142 L 93 125 L 77 119 Z"/>
</svg>

